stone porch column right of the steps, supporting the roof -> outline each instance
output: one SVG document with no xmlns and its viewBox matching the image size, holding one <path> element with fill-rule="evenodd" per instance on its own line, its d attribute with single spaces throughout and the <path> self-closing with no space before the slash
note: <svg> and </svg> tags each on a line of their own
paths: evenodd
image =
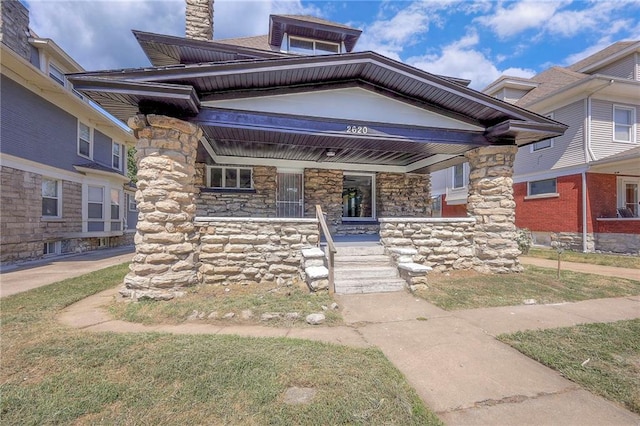
<svg viewBox="0 0 640 426">
<path fill-rule="evenodd" d="M 513 162 L 518 147 L 487 146 L 465 154 L 469 160 L 467 212 L 476 218 L 475 269 L 521 272 L 516 242 Z"/>
</svg>

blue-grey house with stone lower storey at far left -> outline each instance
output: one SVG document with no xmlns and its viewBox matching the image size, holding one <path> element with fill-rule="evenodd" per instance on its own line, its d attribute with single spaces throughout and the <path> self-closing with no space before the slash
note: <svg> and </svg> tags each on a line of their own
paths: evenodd
<svg viewBox="0 0 640 426">
<path fill-rule="evenodd" d="M 82 67 L 29 29 L 22 3 L 0 9 L 0 261 L 132 244 L 133 135 L 73 89 L 65 74 Z"/>
</svg>

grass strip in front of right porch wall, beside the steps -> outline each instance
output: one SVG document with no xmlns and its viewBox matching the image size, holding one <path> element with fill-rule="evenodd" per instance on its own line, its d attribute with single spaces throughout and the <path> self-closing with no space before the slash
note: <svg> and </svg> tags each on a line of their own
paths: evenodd
<svg viewBox="0 0 640 426">
<path fill-rule="evenodd" d="M 429 275 L 428 288 L 417 295 L 446 310 L 577 302 L 640 294 L 640 281 L 525 266 L 520 274 L 488 275 L 453 271 Z"/>
</svg>

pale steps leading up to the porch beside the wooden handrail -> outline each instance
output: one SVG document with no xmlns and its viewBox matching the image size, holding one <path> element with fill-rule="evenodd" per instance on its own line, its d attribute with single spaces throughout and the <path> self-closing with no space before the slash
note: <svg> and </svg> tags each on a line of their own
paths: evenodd
<svg viewBox="0 0 640 426">
<path fill-rule="evenodd" d="M 335 256 L 335 289 L 338 294 L 403 291 L 406 282 L 384 254 L 380 244 L 339 246 Z"/>
</svg>

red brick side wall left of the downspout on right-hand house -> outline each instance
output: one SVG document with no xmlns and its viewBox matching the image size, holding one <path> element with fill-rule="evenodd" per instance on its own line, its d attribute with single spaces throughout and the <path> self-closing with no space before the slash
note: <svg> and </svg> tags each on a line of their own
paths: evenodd
<svg viewBox="0 0 640 426">
<path fill-rule="evenodd" d="M 516 201 L 516 226 L 531 231 L 582 232 L 582 177 L 560 176 L 559 197 L 525 200 L 527 183 L 513 185 Z"/>
</svg>

